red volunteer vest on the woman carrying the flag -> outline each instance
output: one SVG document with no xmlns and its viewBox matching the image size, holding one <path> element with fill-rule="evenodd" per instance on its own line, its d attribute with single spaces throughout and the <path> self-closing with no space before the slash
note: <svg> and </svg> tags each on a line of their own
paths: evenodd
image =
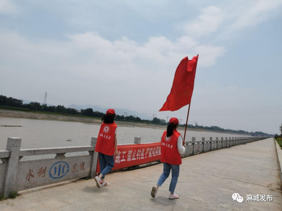
<svg viewBox="0 0 282 211">
<path fill-rule="evenodd" d="M 173 130 L 170 137 L 166 136 L 166 131 L 163 133 L 161 141 L 161 162 L 169 163 L 170 165 L 182 164 L 181 155 L 177 149 L 177 139 L 181 134 Z"/>
</svg>

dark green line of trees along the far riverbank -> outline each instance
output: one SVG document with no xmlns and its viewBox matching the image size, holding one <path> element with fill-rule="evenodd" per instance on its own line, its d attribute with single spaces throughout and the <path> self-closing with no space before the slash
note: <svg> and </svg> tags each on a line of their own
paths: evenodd
<svg viewBox="0 0 282 211">
<path fill-rule="evenodd" d="M 76 110 L 74 108 L 66 108 L 64 105 L 57 106 L 47 106 L 46 104 L 40 104 L 38 102 L 31 102 L 28 104 L 23 104 L 22 100 L 18 100 L 12 97 L 6 97 L 4 95 L 0 95 L 0 109 L 2 110 L 13 110 L 13 111 L 23 111 L 23 112 L 31 112 L 38 114 L 51 114 L 51 115 L 62 115 L 62 116 L 73 116 L 73 117 L 82 117 L 82 118 L 95 118 L 100 119 L 102 116 L 106 115 L 100 111 L 93 111 L 92 108 Z M 154 117 L 152 120 L 141 119 L 136 115 L 116 115 L 116 120 L 121 122 L 133 122 L 133 123 L 141 123 L 141 124 L 153 124 L 153 125 L 161 125 L 166 126 L 167 123 L 165 119 L 160 119 Z M 185 128 L 185 124 L 180 124 L 181 128 Z M 196 129 L 196 130 L 206 130 L 213 132 L 228 132 L 228 133 L 237 133 L 237 134 L 247 134 L 247 135 L 271 135 L 264 132 L 248 132 L 244 130 L 231 130 L 224 129 L 218 126 L 199 126 L 199 125 L 191 125 L 188 124 L 187 128 Z"/>
</svg>

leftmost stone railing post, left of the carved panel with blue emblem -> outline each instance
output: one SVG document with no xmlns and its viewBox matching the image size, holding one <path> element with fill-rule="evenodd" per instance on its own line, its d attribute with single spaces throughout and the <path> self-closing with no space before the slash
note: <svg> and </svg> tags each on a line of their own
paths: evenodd
<svg viewBox="0 0 282 211">
<path fill-rule="evenodd" d="M 4 196 L 9 196 L 9 193 L 15 191 L 16 176 L 19 162 L 19 151 L 21 145 L 21 138 L 8 138 L 7 150 L 10 150 L 10 157 L 7 162 L 5 183 L 4 183 Z"/>
</svg>

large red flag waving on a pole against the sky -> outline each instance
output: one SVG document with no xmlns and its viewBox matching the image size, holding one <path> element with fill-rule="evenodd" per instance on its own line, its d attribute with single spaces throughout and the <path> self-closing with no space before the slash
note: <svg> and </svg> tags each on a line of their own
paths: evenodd
<svg viewBox="0 0 282 211">
<path fill-rule="evenodd" d="M 198 55 L 192 60 L 188 57 L 182 59 L 175 71 L 170 94 L 160 111 L 176 111 L 191 103 L 197 62 Z"/>
</svg>

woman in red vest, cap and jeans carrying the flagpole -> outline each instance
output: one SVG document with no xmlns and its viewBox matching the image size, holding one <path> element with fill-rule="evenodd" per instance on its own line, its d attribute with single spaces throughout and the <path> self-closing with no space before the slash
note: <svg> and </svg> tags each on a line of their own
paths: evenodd
<svg viewBox="0 0 282 211">
<path fill-rule="evenodd" d="M 179 196 L 174 193 L 174 190 L 178 180 L 180 164 L 182 163 L 181 155 L 185 152 L 185 143 L 182 140 L 181 134 L 176 130 L 178 124 L 177 118 L 173 117 L 169 119 L 167 130 L 163 133 L 161 141 L 161 162 L 163 162 L 164 165 L 164 172 L 160 176 L 157 185 L 152 188 L 151 196 L 153 198 L 156 197 L 158 188 L 162 186 L 169 176 L 170 170 L 172 178 L 169 186 L 169 199 L 179 198 Z"/>
</svg>

